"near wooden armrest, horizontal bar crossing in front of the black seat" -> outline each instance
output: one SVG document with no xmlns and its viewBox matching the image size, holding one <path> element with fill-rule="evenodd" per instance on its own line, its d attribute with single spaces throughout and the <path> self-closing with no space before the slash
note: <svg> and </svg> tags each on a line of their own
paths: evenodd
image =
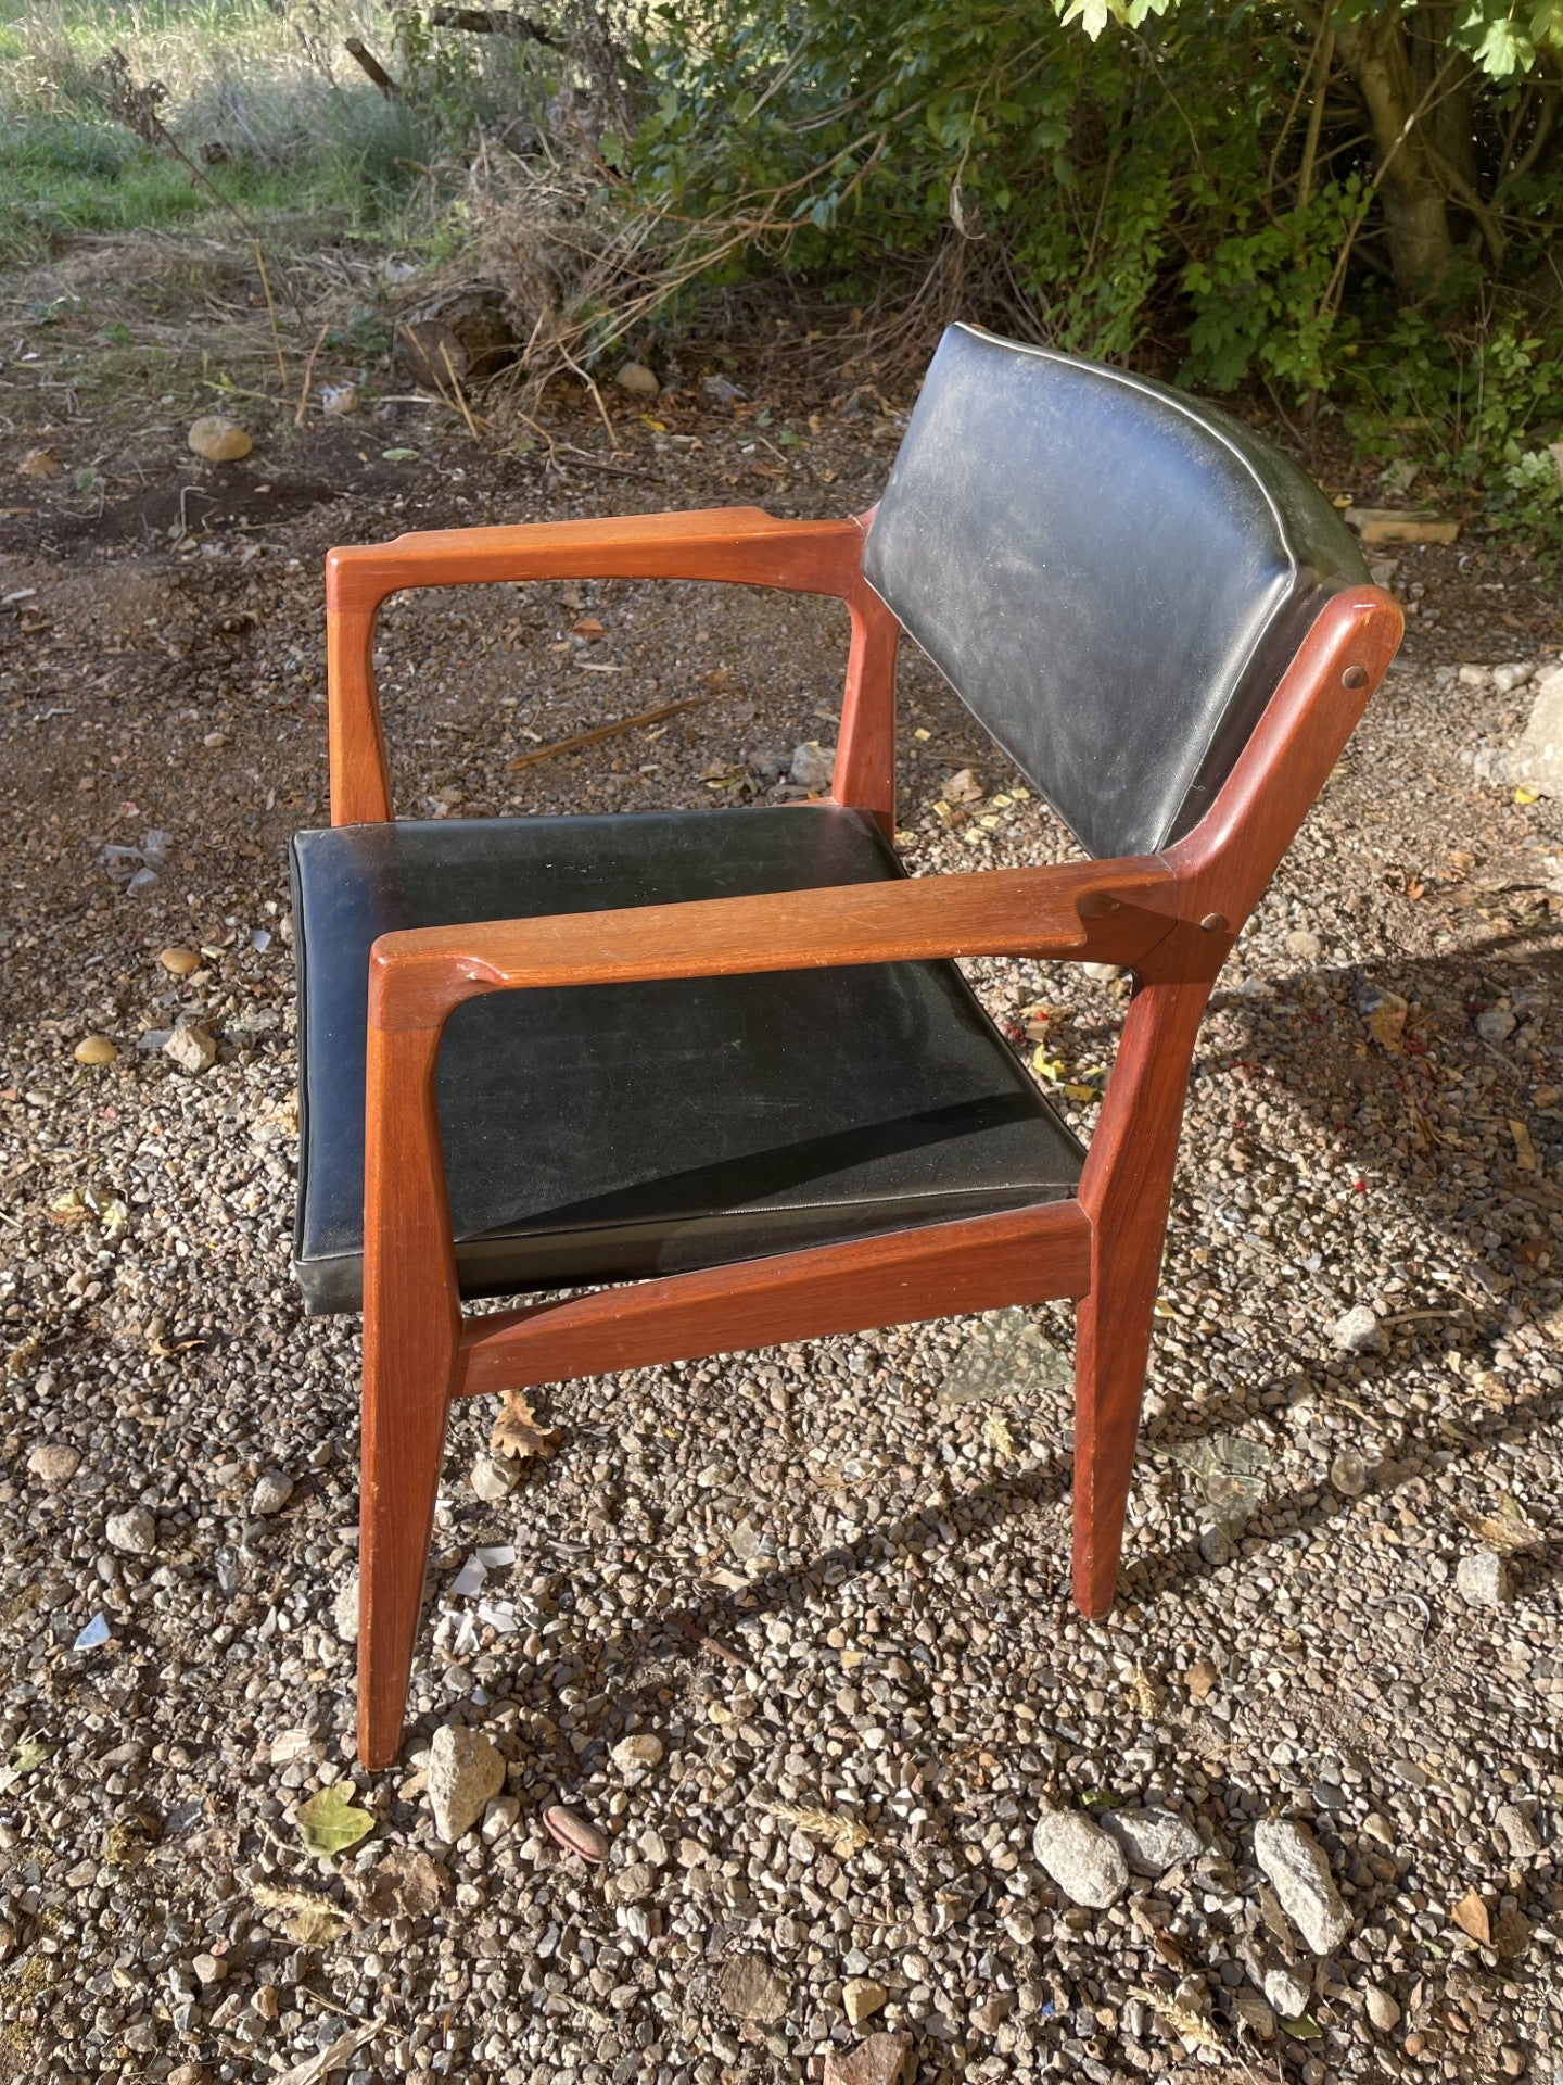
<svg viewBox="0 0 1563 2085">
<path fill-rule="evenodd" d="M 1173 872 L 1146 857 L 411 928 L 381 934 L 373 947 L 369 1024 L 388 1034 L 438 1030 L 463 999 L 546 984 L 952 955 L 1138 965 L 1180 924 L 1188 926 L 1177 911 L 1182 894 Z M 1230 934 L 1194 934 L 1209 942 L 1209 965 L 1194 967 L 1215 976 Z"/>
</svg>

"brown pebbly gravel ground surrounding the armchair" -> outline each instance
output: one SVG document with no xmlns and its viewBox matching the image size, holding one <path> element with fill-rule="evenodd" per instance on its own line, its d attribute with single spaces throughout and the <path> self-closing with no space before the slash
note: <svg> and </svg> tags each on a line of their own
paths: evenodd
<svg viewBox="0 0 1563 2085">
<path fill-rule="evenodd" d="M 6 382 L 0 471 L 50 413 L 69 463 L 71 413 Z M 1480 780 L 1528 692 L 1469 671 L 1555 663 L 1563 623 L 1484 542 L 1400 557 L 1403 661 L 1215 997 L 1113 1618 L 1067 1601 L 1063 1307 L 569 1382 L 556 1453 L 492 1501 L 492 1407 L 461 1409 L 404 1764 L 352 1762 L 356 1328 L 304 1322 L 288 1272 L 319 559 L 873 498 L 871 390 L 748 388 L 717 407 L 694 367 L 617 409 L 615 452 L 565 419 L 563 471 L 392 409 L 371 438 L 256 413 L 227 480 L 154 430 L 96 513 L 6 480 L 0 2081 L 248 2081 L 336 2043 L 350 2085 L 869 2079 L 840 2058 L 875 2029 L 921 2085 L 1563 2079 L 1563 826 Z M 173 542 L 179 484 L 219 519 Z M 842 636 L 696 588 L 400 603 L 402 809 L 777 796 L 834 736 Z M 917 869 L 1067 855 L 919 659 L 902 711 Z M 1125 986 L 971 967 L 1088 1132 Z M 177 1026 L 210 1070 L 156 1047 Z M 92 1034 L 119 1055 L 77 1063 Z M 452 1722 L 504 1787 L 448 1845 Z M 302 1839 L 323 1787 L 371 1826 L 338 1856 Z M 606 1862 L 550 1839 L 554 1801 Z"/>
</svg>

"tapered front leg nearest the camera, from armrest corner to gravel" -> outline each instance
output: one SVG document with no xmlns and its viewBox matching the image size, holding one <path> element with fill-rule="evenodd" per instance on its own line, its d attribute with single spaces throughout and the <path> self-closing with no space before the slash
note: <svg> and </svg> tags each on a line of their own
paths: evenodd
<svg viewBox="0 0 1563 2085">
<path fill-rule="evenodd" d="M 365 1143 L 358 1758 L 402 1741 L 433 1499 L 461 1353 L 433 1063 L 440 1028 L 369 1028 Z"/>
</svg>

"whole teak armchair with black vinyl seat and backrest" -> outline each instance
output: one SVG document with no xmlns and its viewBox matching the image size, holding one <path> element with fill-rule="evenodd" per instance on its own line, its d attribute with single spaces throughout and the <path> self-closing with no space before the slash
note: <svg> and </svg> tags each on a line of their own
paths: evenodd
<svg viewBox="0 0 1563 2085">
<path fill-rule="evenodd" d="M 381 600 L 588 575 L 844 600 L 829 801 L 396 821 Z M 1094 859 L 904 876 L 902 628 Z M 871 515 L 402 536 L 329 555 L 327 630 L 296 1268 L 365 1322 L 365 1766 L 400 1743 L 446 1414 L 483 1391 L 1073 1297 L 1073 1595 L 1107 1614 L 1194 1034 L 1400 638 L 1330 502 L 1177 392 L 952 327 Z M 961 955 L 1134 974 L 1088 1151 Z"/>
</svg>

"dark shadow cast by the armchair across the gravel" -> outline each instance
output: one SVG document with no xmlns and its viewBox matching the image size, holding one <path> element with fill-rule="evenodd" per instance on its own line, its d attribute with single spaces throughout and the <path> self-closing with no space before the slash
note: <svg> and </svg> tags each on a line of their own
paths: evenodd
<svg viewBox="0 0 1563 2085">
<path fill-rule="evenodd" d="M 1517 963 L 1515 957 L 1523 961 Z M 1503 967 L 1503 976 L 1496 974 L 1498 967 Z M 1296 1028 L 1296 1034 L 1282 1036 L 1282 1055 L 1288 1063 L 1307 1065 L 1307 1082 L 1275 1082 L 1273 1086 L 1267 1084 L 1267 1090 L 1277 1101 L 1284 1097 L 1286 1105 L 1300 1109 L 1317 1130 L 1325 1130 L 1330 1136 L 1342 1136 L 1344 1132 L 1350 1138 L 1353 1122 L 1365 1099 L 1378 1103 L 1386 1120 L 1392 1120 L 1388 1118 L 1388 1107 L 1398 1109 L 1407 1120 L 1415 1120 L 1407 1103 L 1415 1103 L 1417 1086 L 1425 1086 L 1432 1093 L 1430 1072 L 1436 1076 L 1440 1038 L 1446 1042 L 1459 1034 L 1459 1040 L 1465 1042 L 1471 1034 L 1473 1011 L 1500 995 L 1513 997 L 1519 990 L 1521 976 L 1528 995 L 1521 1017 L 1530 1017 L 1530 1011 L 1548 1011 L 1550 1007 L 1563 1011 L 1563 940 L 1544 930 L 1492 938 L 1478 949 L 1465 947 L 1436 959 L 1396 959 L 1386 955 L 1382 961 L 1363 965 L 1292 972 L 1265 980 L 1263 997 L 1230 988 L 1213 999 L 1213 1009 L 1225 1013 L 1252 1009 L 1255 1020 L 1246 1024 L 1248 1034 L 1240 1036 L 1234 1045 L 1202 1047 L 1196 1055 L 1196 1078 L 1242 1076 L 1244 1072 L 1252 1076 L 1257 1072 L 1252 1049 L 1259 1038 L 1259 1015 L 1263 1015 L 1282 1028 L 1288 1024 Z M 1328 999 L 1323 1001 L 1313 992 L 1317 980 L 1323 980 L 1328 988 Z M 1413 1009 L 1407 1028 L 1409 1047 L 1403 1055 L 1390 1055 L 1375 1040 L 1369 1040 L 1367 1026 L 1357 1011 L 1359 990 L 1373 986 L 1396 990 Z M 1332 1013 L 1315 1020 L 1313 1015 L 1319 1015 L 1319 1009 L 1325 1005 Z M 1088 1040 L 1100 1038 L 1107 1049 L 1115 1042 L 1115 1028 L 1109 1030 L 1105 1024 L 1077 1024 L 1073 1034 Z M 1367 1053 L 1359 1055 L 1359 1045 L 1363 1042 L 1367 1042 Z M 1434 1068 L 1428 1068 L 1428 1057 L 1434 1057 Z M 1465 1057 L 1467 1053 L 1461 1051 L 1461 1061 Z M 1486 1045 L 1473 1053 L 1473 1061 L 1492 1061 Z M 1525 1065 L 1521 1070 L 1509 1063 L 1503 1051 L 1496 1051 L 1496 1061 L 1509 1065 L 1515 1093 L 1538 1078 L 1534 1068 Z M 1563 1078 L 1559 1082 L 1563 1084 Z M 1513 1105 L 1519 1107 L 1519 1101 L 1515 1099 Z M 1436 1138 L 1421 1145 L 1415 1161 L 1411 1161 L 1409 1151 L 1400 1147 L 1394 1134 L 1382 1134 L 1363 1149 L 1361 1161 L 1375 1176 L 1382 1176 L 1384 1188 L 1398 1188 L 1413 1195 L 1423 1209 L 1428 1209 L 1425 1197 L 1430 1184 L 1442 1193 L 1455 1188 L 1467 1193 L 1467 1184 L 1459 1180 L 1453 1166 L 1453 1153 Z M 1534 1241 L 1505 1236 L 1498 1249 L 1484 1243 L 1484 1234 L 1490 1234 L 1503 1218 L 1513 1216 L 1513 1205 L 1538 1218 L 1542 1232 L 1550 1232 L 1544 1249 L 1555 1247 L 1553 1257 L 1559 1272 L 1563 1272 L 1563 1191 L 1550 1186 L 1546 1166 L 1563 1166 L 1563 1120 L 1557 1122 L 1555 1151 L 1540 1161 L 1536 1176 L 1530 1176 L 1517 1163 L 1490 1166 L 1484 1180 L 1469 1186 L 1469 1216 L 1463 1207 L 1455 1209 L 1453 1216 L 1446 1209 L 1432 1216 L 1450 1236 L 1450 1243 L 1469 1253 L 1473 1261 L 1482 1266 L 1490 1266 L 1494 1257 L 1503 1261 L 1496 1270 L 1496 1293 L 1484 1291 L 1480 1297 L 1471 1297 L 1467 1284 L 1463 1301 L 1469 1307 L 1469 1316 L 1455 1334 L 1450 1334 L 1450 1326 L 1444 1322 L 1432 1334 L 1411 1330 L 1409 1336 L 1398 1339 L 1392 1359 L 1355 1357 L 1350 1366 L 1357 1374 L 1357 1387 L 1367 1389 L 1365 1403 L 1371 1403 L 1373 1382 L 1386 1380 L 1394 1368 L 1405 1366 L 1409 1353 L 1425 1347 L 1430 1339 L 1436 1339 L 1440 1347 L 1446 1347 L 1453 1336 L 1465 1349 L 1480 1347 L 1496 1334 L 1509 1305 L 1519 1301 L 1523 1307 L 1528 1284 L 1538 1278 L 1538 1264 L 1536 1259 L 1525 1261 L 1517 1257 L 1511 1247 L 1515 1243 L 1532 1245 Z M 1511 1203 L 1509 1209 L 1498 1207 L 1505 1199 Z M 1548 1218 L 1555 1222 L 1548 1224 Z M 1509 1230 L 1513 1232 L 1515 1228 L 1509 1222 Z M 1215 1249 L 1221 1249 L 1219 1241 L 1215 1241 Z M 1323 1364 L 1302 1359 L 1298 1362 L 1296 1378 L 1309 1382 L 1330 1380 Z M 1269 1393 L 1259 1393 L 1259 1403 L 1280 1405 L 1282 1401 L 1284 1378 L 1273 1382 Z M 1140 1470 L 1144 1472 L 1146 1445 L 1155 1451 L 1155 1447 L 1169 1447 L 1180 1439 L 1198 1439 L 1225 1428 L 1238 1430 L 1238 1426 L 1252 1420 L 1252 1391 L 1217 1393 L 1196 1403 L 1173 1399 L 1163 1409 L 1155 1441 L 1142 1443 Z M 1513 1401 L 1503 1409 L 1494 1407 L 1478 1414 L 1463 1428 L 1459 1445 L 1465 1453 L 1482 1451 L 1494 1447 L 1511 1428 L 1536 1430 L 1555 1424 L 1559 1418 L 1563 1418 L 1563 1391 L 1534 1387 L 1515 1393 Z M 1382 1505 L 1421 1474 L 1423 1470 L 1417 1464 L 1386 1460 L 1367 1497 L 1371 1503 Z M 646 1620 L 625 1618 L 621 1630 L 604 1643 L 600 1666 L 598 1685 L 613 1697 L 613 1718 L 592 1733 L 579 1753 L 561 1745 L 559 1770 L 569 1779 L 590 1772 L 627 1726 L 659 1712 L 661 1703 L 654 1697 L 659 1689 L 667 1687 L 669 1664 L 692 1664 L 702 1658 L 736 1658 L 738 1653 L 723 1639 L 740 1622 L 788 1612 L 804 1595 L 817 1593 L 821 1585 L 834 1587 L 842 1578 L 884 1568 L 890 1557 L 915 1557 L 940 1547 L 954 1549 L 973 1532 L 992 1532 L 1007 1520 L 1036 1507 L 1063 1503 L 1069 1497 L 1069 1453 L 1048 1453 L 1019 1470 L 973 1485 L 938 1510 L 913 1510 L 871 1524 L 850 1543 L 821 1549 L 804 1564 L 759 1574 L 742 1591 L 711 1587 L 704 1597 L 686 1608 L 665 1610 Z M 1298 1535 L 1311 1535 L 1330 1524 L 1344 1526 L 1359 1505 L 1361 1501 L 1342 1499 L 1330 1491 L 1323 1480 L 1280 1495 L 1271 1493 L 1246 1530 L 1236 1537 L 1232 1555 L 1255 1557 L 1277 1541 L 1294 1541 Z M 1282 1516 L 1290 1518 L 1282 1524 Z M 1513 1562 L 1521 1589 L 1525 1585 L 1557 1583 L 1563 1578 L 1563 1530 L 1548 1535 L 1538 1553 Z M 1130 1530 L 1119 1601 L 1150 1601 L 1196 1578 L 1213 1578 L 1223 1568 L 1227 1568 L 1225 1562 L 1205 1560 L 1196 1539 L 1146 1549 L 1136 1541 L 1134 1530 Z M 1067 1599 L 1067 1560 L 1052 1591 L 1059 1599 Z M 909 1655 L 917 1662 L 915 1651 L 909 1649 Z M 748 1660 L 744 1658 L 742 1662 L 746 1664 Z"/>
</svg>

